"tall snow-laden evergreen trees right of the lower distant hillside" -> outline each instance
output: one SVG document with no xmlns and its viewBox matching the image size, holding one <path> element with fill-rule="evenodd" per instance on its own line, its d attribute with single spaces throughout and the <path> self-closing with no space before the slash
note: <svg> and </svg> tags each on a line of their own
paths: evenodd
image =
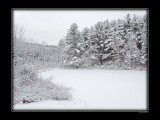
<svg viewBox="0 0 160 120">
<path fill-rule="evenodd" d="M 147 16 L 107 19 L 78 30 L 73 23 L 58 45 L 63 66 L 134 69 L 147 64 Z"/>
</svg>

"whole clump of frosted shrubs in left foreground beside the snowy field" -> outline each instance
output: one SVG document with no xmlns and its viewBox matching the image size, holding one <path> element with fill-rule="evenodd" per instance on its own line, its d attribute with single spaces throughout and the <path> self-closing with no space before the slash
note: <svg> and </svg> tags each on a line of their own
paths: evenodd
<svg viewBox="0 0 160 120">
<path fill-rule="evenodd" d="M 69 88 L 55 85 L 50 80 L 38 77 L 35 66 L 25 64 L 17 67 L 18 77 L 13 81 L 13 104 L 24 101 L 36 102 L 40 100 L 69 100 Z"/>
</svg>

